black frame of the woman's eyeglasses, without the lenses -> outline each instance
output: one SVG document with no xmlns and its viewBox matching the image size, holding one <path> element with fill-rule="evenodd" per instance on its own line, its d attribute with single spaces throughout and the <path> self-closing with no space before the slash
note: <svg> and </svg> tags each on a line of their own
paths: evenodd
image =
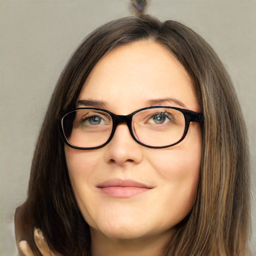
<svg viewBox="0 0 256 256">
<path fill-rule="evenodd" d="M 146 109 L 151 109 L 151 108 L 170 108 L 170 109 L 175 109 L 175 110 L 178 110 L 180 111 L 183 115 L 184 115 L 184 118 L 185 118 L 185 127 L 184 127 L 184 131 L 183 131 L 183 135 L 181 136 L 181 138 L 175 142 L 175 143 L 172 143 L 172 144 L 169 144 L 169 145 L 165 145 L 165 146 L 150 146 L 150 145 L 147 145 L 147 144 L 144 144 L 142 143 L 141 141 L 139 141 L 133 134 L 132 132 L 132 127 L 131 127 L 131 121 L 132 121 L 132 116 L 134 114 L 136 114 L 137 112 L 140 112 L 142 110 L 146 110 Z M 79 146 L 75 146 L 75 145 L 72 145 L 70 144 L 66 137 L 65 137 L 65 134 L 64 134 L 64 130 L 63 130 L 63 125 L 62 125 L 62 120 L 63 118 L 65 117 L 65 115 L 67 115 L 68 113 L 70 112 L 73 112 L 73 111 L 76 111 L 76 110 L 79 110 L 79 109 L 95 109 L 95 110 L 100 110 L 100 111 L 103 111 L 103 112 L 106 112 L 108 113 L 111 118 L 112 118 L 112 131 L 109 135 L 109 138 L 107 139 L 106 142 L 104 142 L 103 144 L 101 145 L 98 145 L 98 146 L 93 146 L 93 147 L 79 147 Z M 68 146 L 72 147 L 72 148 L 75 148 L 75 149 L 82 149 L 82 150 L 87 150 L 87 149 L 96 149 L 96 148 L 100 148 L 100 147 L 103 147 L 105 146 L 107 143 L 110 142 L 110 140 L 112 139 L 113 135 L 114 135 L 114 132 L 115 132 L 115 129 L 116 129 L 116 126 L 119 124 L 119 123 L 126 123 L 126 125 L 128 126 L 128 129 L 129 129 L 129 132 L 130 132 L 130 135 L 131 137 L 140 145 L 143 145 L 145 147 L 149 147 L 149 148 L 164 148 L 164 147 L 170 147 L 170 146 L 173 146 L 173 145 L 176 145 L 178 144 L 180 141 L 182 141 L 184 139 L 184 137 L 186 136 L 187 134 L 187 131 L 188 131 L 188 127 L 189 127 L 189 123 L 190 122 L 198 122 L 198 123 L 203 123 L 204 122 L 204 116 L 203 116 L 203 113 L 198 113 L 198 112 L 195 112 L 195 111 L 192 111 L 192 110 L 188 110 L 188 109 L 184 109 L 184 108 L 179 108 L 179 107 L 174 107 L 174 106 L 165 106 L 165 105 L 157 105 L 157 106 L 147 106 L 147 107 L 143 107 L 143 108 L 140 108 L 140 109 L 137 109 L 136 111 L 130 113 L 130 114 L 127 114 L 127 115 L 118 115 L 118 114 L 114 114 L 106 109 L 103 109 L 103 108 L 96 108 L 96 107 L 77 107 L 77 108 L 72 108 L 72 109 L 69 109 L 67 112 L 65 112 L 63 114 L 63 116 L 58 119 L 58 124 L 59 124 L 59 131 L 61 133 L 61 137 L 63 139 L 63 141 L 65 142 L 65 144 L 67 144 Z"/>
</svg>

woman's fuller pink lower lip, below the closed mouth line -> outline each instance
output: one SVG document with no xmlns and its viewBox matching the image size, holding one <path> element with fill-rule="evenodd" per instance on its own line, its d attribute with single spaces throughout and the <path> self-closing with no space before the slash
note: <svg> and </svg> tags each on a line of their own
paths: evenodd
<svg viewBox="0 0 256 256">
<path fill-rule="evenodd" d="M 107 186 L 107 187 L 99 187 L 99 189 L 108 195 L 117 198 L 129 198 L 134 195 L 143 193 L 147 191 L 149 188 L 146 187 L 137 187 L 137 186 Z"/>
</svg>

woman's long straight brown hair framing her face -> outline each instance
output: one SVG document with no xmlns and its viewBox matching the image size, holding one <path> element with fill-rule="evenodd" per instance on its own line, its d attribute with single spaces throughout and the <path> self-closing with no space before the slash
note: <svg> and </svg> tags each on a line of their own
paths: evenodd
<svg viewBox="0 0 256 256">
<path fill-rule="evenodd" d="M 249 156 L 246 129 L 231 80 L 212 48 L 188 27 L 149 15 L 111 21 L 89 34 L 68 61 L 36 144 L 21 222 L 32 239 L 39 227 L 62 255 L 90 255 L 89 227 L 72 193 L 58 119 L 75 107 L 90 71 L 111 49 L 152 40 L 170 50 L 190 75 L 204 114 L 198 191 L 165 255 L 245 255 L 249 228 Z"/>
</svg>

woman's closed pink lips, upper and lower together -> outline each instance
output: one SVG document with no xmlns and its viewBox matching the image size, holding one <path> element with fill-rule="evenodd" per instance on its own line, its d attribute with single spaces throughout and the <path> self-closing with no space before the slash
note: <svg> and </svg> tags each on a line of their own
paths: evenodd
<svg viewBox="0 0 256 256">
<path fill-rule="evenodd" d="M 105 194 L 117 198 L 129 198 L 152 188 L 132 179 L 108 179 L 97 187 Z"/>
</svg>

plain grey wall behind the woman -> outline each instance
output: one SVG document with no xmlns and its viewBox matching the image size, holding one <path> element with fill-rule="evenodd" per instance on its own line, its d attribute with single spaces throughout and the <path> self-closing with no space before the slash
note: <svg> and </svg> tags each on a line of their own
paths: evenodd
<svg viewBox="0 0 256 256">
<path fill-rule="evenodd" d="M 256 1 L 151 0 L 147 13 L 188 25 L 222 59 L 248 127 L 254 189 Z M 26 198 L 34 144 L 61 70 L 88 32 L 131 14 L 129 0 L 0 1 L 1 256 L 16 255 L 13 213 Z M 256 255 L 255 205 L 253 211 L 250 247 Z"/>
</svg>

